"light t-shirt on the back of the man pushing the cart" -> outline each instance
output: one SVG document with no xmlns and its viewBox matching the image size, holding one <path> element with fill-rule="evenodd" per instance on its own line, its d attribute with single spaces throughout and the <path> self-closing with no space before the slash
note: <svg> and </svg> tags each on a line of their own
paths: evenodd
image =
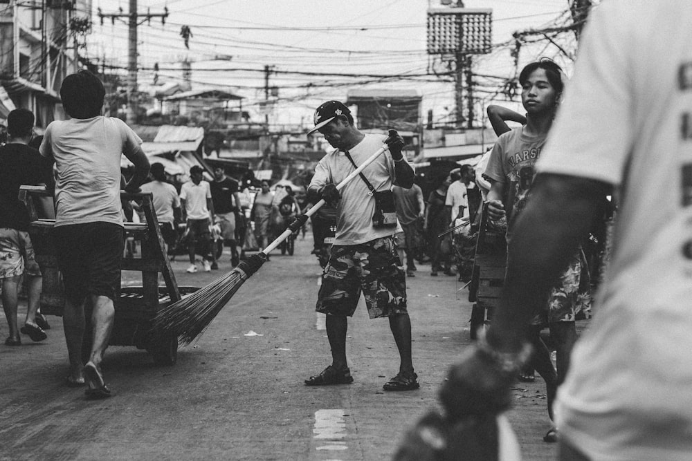
<svg viewBox="0 0 692 461">
<path fill-rule="evenodd" d="M 48 124 L 39 151 L 55 159 L 55 225 L 101 222 L 122 226 L 120 158 L 140 144 L 139 136 L 115 117 Z"/>
</svg>

